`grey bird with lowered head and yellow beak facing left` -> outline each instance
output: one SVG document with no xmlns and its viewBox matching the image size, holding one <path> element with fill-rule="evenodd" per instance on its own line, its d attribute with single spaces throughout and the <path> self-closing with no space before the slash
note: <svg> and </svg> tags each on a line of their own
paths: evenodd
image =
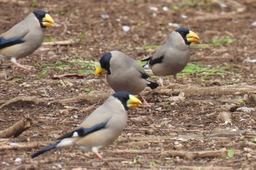
<svg viewBox="0 0 256 170">
<path fill-rule="evenodd" d="M 133 95 L 140 95 L 143 104 L 148 105 L 141 93 L 146 86 L 154 89 L 158 84 L 148 79 L 148 74 L 137 61 L 121 51 L 110 51 L 102 56 L 99 63 L 100 66 L 95 70 L 97 77 L 107 74 L 110 88 L 114 91 L 126 90 Z"/>
</svg>

